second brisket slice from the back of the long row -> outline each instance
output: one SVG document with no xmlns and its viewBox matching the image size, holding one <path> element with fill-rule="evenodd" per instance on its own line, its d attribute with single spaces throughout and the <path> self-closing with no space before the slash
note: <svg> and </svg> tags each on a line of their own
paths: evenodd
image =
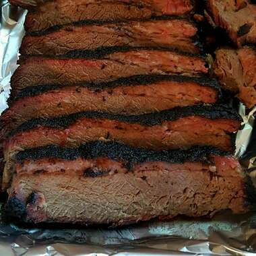
<svg viewBox="0 0 256 256">
<path fill-rule="evenodd" d="M 72 50 L 109 46 L 163 46 L 198 53 L 197 28 L 187 20 L 150 20 L 88 26 L 65 26 L 51 34 L 25 36 L 23 55 L 63 55 Z"/>
</svg>

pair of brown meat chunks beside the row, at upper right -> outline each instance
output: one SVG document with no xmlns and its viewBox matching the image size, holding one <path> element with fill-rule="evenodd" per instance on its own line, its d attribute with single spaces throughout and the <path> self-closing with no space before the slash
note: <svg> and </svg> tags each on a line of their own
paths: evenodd
<svg viewBox="0 0 256 256">
<path fill-rule="evenodd" d="M 214 73 L 248 108 L 256 105 L 256 5 L 251 2 L 207 1 L 208 20 L 224 29 L 238 48 L 216 51 Z"/>
</svg>

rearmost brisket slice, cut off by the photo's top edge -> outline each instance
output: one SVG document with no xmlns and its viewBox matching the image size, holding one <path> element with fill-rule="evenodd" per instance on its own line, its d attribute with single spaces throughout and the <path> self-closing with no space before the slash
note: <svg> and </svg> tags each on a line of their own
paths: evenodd
<svg viewBox="0 0 256 256">
<path fill-rule="evenodd" d="M 30 9 L 25 22 L 27 32 L 49 30 L 73 22 L 120 22 L 162 15 L 185 15 L 193 9 L 190 0 L 73 0 L 68 3 L 65 0 L 10 0 L 9 2 Z"/>
</svg>

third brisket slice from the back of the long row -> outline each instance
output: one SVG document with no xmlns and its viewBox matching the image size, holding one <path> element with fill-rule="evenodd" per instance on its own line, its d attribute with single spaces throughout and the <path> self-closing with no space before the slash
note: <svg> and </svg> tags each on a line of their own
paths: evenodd
<svg viewBox="0 0 256 256">
<path fill-rule="evenodd" d="M 122 48 L 123 49 L 123 48 Z M 85 59 L 47 59 L 29 57 L 11 77 L 13 94 L 28 86 L 42 84 L 77 84 L 107 82 L 119 77 L 149 74 L 201 75 L 207 73 L 204 59 L 174 51 L 126 49 L 106 51 L 71 51 L 69 57 Z"/>
</svg>

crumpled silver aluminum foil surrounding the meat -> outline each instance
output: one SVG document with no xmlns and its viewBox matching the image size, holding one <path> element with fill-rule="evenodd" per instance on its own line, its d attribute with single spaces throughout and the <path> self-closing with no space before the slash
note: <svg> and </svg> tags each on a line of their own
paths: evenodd
<svg viewBox="0 0 256 256">
<path fill-rule="evenodd" d="M 5 3 L 0 27 L 0 113 L 7 108 L 9 79 L 15 71 L 24 36 L 26 11 Z M 245 168 L 256 170 L 256 108 L 243 117 L 236 137 L 236 156 Z M 253 139 L 252 139 L 253 138 Z M 251 171 L 251 176 L 256 176 Z M 222 212 L 207 218 L 176 218 L 123 228 L 26 228 L 0 221 L 0 255 L 256 255 L 256 214 Z"/>
</svg>

